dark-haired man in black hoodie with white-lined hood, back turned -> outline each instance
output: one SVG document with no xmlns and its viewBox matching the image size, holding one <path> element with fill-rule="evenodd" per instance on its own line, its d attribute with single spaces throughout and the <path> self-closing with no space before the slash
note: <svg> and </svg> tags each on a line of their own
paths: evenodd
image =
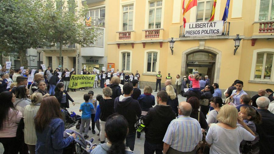
<svg viewBox="0 0 274 154">
<path fill-rule="evenodd" d="M 133 93 L 132 83 L 126 83 L 123 86 L 124 95 L 115 98 L 114 111 L 123 115 L 128 121 L 128 135 L 126 137 L 126 146 L 130 150 L 134 150 L 136 129 L 134 127 L 136 121 L 142 114 L 140 104 L 131 97 Z"/>
</svg>

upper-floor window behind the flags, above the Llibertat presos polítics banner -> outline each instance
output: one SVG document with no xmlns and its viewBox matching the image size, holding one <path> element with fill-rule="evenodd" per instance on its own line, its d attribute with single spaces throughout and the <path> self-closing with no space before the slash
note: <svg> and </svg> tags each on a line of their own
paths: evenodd
<svg viewBox="0 0 274 154">
<path fill-rule="evenodd" d="M 213 0 L 198 0 L 196 22 L 209 21 L 212 13 Z"/>
</svg>

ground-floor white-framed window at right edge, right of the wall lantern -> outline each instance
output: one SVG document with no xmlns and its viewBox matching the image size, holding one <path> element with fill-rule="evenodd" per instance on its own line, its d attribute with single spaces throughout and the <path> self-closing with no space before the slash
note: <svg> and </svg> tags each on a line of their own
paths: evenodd
<svg viewBox="0 0 274 154">
<path fill-rule="evenodd" d="M 274 52 L 259 52 L 256 55 L 254 79 L 271 80 Z"/>
</svg>

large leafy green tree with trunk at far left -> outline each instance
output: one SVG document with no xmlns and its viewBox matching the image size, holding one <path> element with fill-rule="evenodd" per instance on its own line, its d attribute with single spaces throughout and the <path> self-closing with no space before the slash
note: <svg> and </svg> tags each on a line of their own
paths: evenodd
<svg viewBox="0 0 274 154">
<path fill-rule="evenodd" d="M 27 67 L 27 49 L 45 43 L 40 6 L 38 0 L 0 0 L 0 52 L 18 53 L 21 66 Z"/>
</svg>

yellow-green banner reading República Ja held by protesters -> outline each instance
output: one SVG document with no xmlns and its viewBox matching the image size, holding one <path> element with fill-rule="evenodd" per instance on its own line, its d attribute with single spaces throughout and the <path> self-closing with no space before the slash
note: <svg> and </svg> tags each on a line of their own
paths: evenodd
<svg viewBox="0 0 274 154">
<path fill-rule="evenodd" d="M 95 75 L 71 75 L 68 87 L 72 89 L 93 87 Z"/>
</svg>

